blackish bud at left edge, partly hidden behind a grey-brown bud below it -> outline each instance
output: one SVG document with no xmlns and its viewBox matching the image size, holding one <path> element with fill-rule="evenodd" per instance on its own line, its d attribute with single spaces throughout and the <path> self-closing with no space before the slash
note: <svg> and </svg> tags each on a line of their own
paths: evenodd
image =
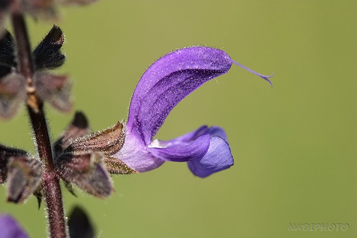
<svg viewBox="0 0 357 238">
<path fill-rule="evenodd" d="M 13 156 L 28 156 L 27 152 L 17 148 L 11 148 L 0 144 L 0 184 L 7 180 L 8 164 Z"/>
</svg>

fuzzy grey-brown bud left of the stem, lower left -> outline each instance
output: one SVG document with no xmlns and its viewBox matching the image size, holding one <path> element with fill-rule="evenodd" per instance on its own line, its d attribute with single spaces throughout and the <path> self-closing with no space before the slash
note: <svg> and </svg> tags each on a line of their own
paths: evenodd
<svg viewBox="0 0 357 238">
<path fill-rule="evenodd" d="M 25 155 L 13 156 L 8 165 L 7 200 L 23 202 L 38 190 L 42 181 L 42 164 Z"/>
</svg>

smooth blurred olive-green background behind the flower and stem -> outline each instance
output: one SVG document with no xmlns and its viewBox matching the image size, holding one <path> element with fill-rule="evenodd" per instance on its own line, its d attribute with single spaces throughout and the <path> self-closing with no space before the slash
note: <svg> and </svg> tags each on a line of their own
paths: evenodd
<svg viewBox="0 0 357 238">
<path fill-rule="evenodd" d="M 143 71 L 175 48 L 222 48 L 263 74 L 273 89 L 232 66 L 184 99 L 157 138 L 220 125 L 235 165 L 208 178 L 185 163 L 114 176 L 108 199 L 64 191 L 80 204 L 97 237 L 357 237 L 355 1 L 105 1 L 60 8 L 74 80 L 74 110 L 93 130 L 126 119 Z M 54 22 L 28 18 L 33 46 Z M 74 111 L 73 111 L 74 112 Z M 47 107 L 56 139 L 73 113 Z M 34 152 L 24 108 L 1 121 L 1 143 Z M 43 206 L 5 202 L 32 237 L 46 235 Z M 348 223 L 347 231 L 289 231 L 289 223 Z"/>
</svg>

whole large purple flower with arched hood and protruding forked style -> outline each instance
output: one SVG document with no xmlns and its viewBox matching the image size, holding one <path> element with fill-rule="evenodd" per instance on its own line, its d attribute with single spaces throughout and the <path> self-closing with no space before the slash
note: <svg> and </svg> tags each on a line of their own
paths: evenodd
<svg viewBox="0 0 357 238">
<path fill-rule="evenodd" d="M 169 141 L 152 138 L 177 103 L 202 84 L 228 72 L 232 63 L 244 67 L 222 50 L 200 46 L 179 49 L 157 60 L 144 72 L 134 91 L 125 141 L 113 157 L 138 172 L 155 169 L 165 161 L 187 162 L 199 177 L 230 168 L 233 156 L 220 127 L 202 126 Z M 270 83 L 270 76 L 251 72 Z"/>
</svg>

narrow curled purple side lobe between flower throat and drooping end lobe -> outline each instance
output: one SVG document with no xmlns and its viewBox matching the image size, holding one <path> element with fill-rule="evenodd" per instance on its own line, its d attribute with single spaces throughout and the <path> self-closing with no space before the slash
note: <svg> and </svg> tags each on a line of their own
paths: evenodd
<svg viewBox="0 0 357 238">
<path fill-rule="evenodd" d="M 164 161 L 187 162 L 203 157 L 209 146 L 210 135 L 203 135 L 191 143 L 176 144 L 166 148 L 149 147 L 148 151 Z"/>
</svg>

